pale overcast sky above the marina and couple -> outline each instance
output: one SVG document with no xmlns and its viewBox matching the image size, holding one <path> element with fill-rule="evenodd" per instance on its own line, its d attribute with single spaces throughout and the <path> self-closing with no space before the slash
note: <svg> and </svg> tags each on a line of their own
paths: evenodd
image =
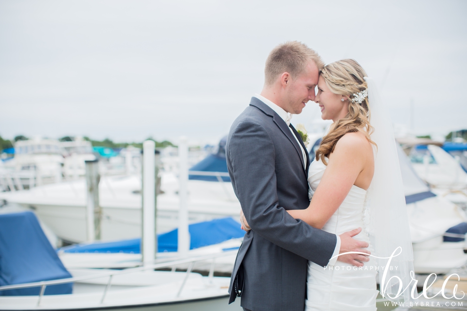
<svg viewBox="0 0 467 311">
<path fill-rule="evenodd" d="M 393 123 L 447 134 L 467 127 L 466 14 L 465 0 L 0 0 L 0 136 L 216 141 L 287 40 L 356 59 Z M 319 116 L 309 102 L 292 123 Z"/>
</svg>

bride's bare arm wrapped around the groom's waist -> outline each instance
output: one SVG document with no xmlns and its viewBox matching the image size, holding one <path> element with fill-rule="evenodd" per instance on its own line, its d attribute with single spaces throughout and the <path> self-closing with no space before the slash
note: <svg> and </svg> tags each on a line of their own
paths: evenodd
<svg viewBox="0 0 467 311">
<path fill-rule="evenodd" d="M 371 153 L 369 155 L 369 152 Z M 360 133 L 347 133 L 336 143 L 329 156 L 326 171 L 310 205 L 306 209 L 287 210 L 295 219 L 321 229 L 349 193 L 365 169 L 368 156 L 373 156 L 368 140 Z M 371 178 L 370 178 L 371 180 Z"/>
</svg>

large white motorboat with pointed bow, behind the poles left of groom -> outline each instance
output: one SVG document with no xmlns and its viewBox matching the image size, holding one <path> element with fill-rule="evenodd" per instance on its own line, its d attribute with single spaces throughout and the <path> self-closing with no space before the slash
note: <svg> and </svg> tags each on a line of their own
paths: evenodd
<svg viewBox="0 0 467 311">
<path fill-rule="evenodd" d="M 199 223 L 216 218 L 235 217 L 240 213 L 230 179 L 228 179 L 225 151 L 219 149 L 210 157 L 221 158 L 223 167 L 212 165 L 190 171 L 188 181 L 189 222 Z M 180 203 L 177 171 L 162 171 L 157 197 L 157 233 L 175 229 Z M 195 175 L 214 176 L 215 181 L 197 180 Z M 221 181 L 218 181 L 220 178 Z M 102 176 L 99 183 L 101 240 L 115 241 L 141 237 L 142 207 L 141 173 Z M 31 190 L 0 192 L 0 200 L 16 203 L 32 210 L 63 241 L 88 241 L 86 232 L 86 182 L 83 179 L 43 185 Z"/>
</svg>

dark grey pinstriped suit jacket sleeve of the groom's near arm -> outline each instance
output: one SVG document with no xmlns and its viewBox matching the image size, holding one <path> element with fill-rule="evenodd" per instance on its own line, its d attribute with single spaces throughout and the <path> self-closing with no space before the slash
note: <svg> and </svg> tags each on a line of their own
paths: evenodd
<svg viewBox="0 0 467 311">
<path fill-rule="evenodd" d="M 253 121 L 239 123 L 229 141 L 227 157 L 235 193 L 254 234 L 327 265 L 336 235 L 294 219 L 279 206 L 274 144 L 264 127 Z"/>
</svg>

